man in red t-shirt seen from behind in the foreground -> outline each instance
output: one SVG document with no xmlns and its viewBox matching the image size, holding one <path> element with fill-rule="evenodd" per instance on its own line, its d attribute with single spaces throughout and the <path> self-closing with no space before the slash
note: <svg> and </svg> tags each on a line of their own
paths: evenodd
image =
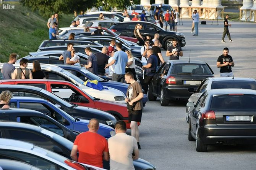
<svg viewBox="0 0 256 170">
<path fill-rule="evenodd" d="M 70 156 L 72 160 L 103 168 L 103 160 L 109 161 L 107 140 L 97 133 L 99 130 L 97 119 L 91 119 L 88 128 L 89 131 L 76 137 Z"/>
</svg>

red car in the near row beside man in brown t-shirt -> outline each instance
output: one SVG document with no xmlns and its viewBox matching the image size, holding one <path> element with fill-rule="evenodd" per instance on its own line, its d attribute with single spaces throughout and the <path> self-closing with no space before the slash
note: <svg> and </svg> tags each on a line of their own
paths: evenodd
<svg viewBox="0 0 256 170">
<path fill-rule="evenodd" d="M 117 120 L 125 121 L 127 128 L 130 129 L 130 123 L 128 123 L 128 111 L 125 104 L 95 99 L 68 81 L 47 79 L 8 79 L 0 80 L 0 84 L 20 84 L 40 87 L 64 100 L 67 100 L 68 102 L 79 106 L 86 106 L 106 111 L 115 116 Z M 69 94 L 69 98 L 63 97 L 69 96 Z"/>
</svg>

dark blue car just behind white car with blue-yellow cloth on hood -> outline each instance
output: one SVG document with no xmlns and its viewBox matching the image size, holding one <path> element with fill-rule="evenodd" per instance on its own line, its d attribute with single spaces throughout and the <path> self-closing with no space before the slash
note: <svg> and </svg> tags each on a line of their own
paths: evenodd
<svg viewBox="0 0 256 170">
<path fill-rule="evenodd" d="M 79 67 L 79 66 L 75 66 L 75 65 L 63 65 L 63 64 L 59 64 L 57 66 L 63 68 L 64 70 L 71 72 L 72 74 L 79 77 L 83 81 L 86 81 L 88 79 L 89 80 L 97 80 L 103 86 L 112 87 L 114 89 L 120 90 L 124 94 L 126 94 L 128 86 L 129 86 L 129 84 L 126 84 L 126 83 L 120 83 L 117 81 L 111 81 L 111 80 L 100 78 L 99 76 L 96 76 L 93 73 L 91 73 L 90 71 L 86 70 L 86 68 L 84 68 L 84 67 Z M 143 102 L 143 105 L 145 106 L 145 104 L 147 102 L 146 94 L 144 94 L 144 96 L 142 98 L 142 102 Z"/>
</svg>

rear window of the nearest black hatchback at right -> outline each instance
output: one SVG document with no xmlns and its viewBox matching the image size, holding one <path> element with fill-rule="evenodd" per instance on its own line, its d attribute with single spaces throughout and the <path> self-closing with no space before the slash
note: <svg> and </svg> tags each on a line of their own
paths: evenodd
<svg viewBox="0 0 256 170">
<path fill-rule="evenodd" d="M 256 109 L 256 95 L 231 94 L 212 98 L 211 109 Z"/>
</svg>

